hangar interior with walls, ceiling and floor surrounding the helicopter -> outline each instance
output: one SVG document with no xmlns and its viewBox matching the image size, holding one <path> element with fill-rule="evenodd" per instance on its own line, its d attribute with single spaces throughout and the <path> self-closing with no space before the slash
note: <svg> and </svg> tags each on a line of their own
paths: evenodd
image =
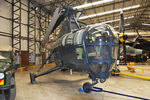
<svg viewBox="0 0 150 100">
<path fill-rule="evenodd" d="M 87 74 L 80 75 L 74 71 L 56 71 L 38 78 L 38 84 L 30 84 L 29 73 L 36 71 L 51 54 L 48 43 L 58 39 L 59 31 L 63 27 L 60 24 L 48 37 L 47 45 L 42 46 L 55 9 L 61 6 L 83 11 L 79 20 L 84 22 L 84 26 L 104 23 L 114 28 L 116 34 L 119 33 L 120 12 L 123 11 L 124 34 L 128 38 L 125 43 L 126 57 L 123 57 L 120 49 L 121 65 L 118 68 L 126 73 L 111 76 L 105 83 L 97 86 L 150 98 L 150 0 L 1 0 L 0 51 L 7 46 L 12 47 L 11 60 L 17 65 L 15 100 L 130 99 L 107 93 L 78 93 L 78 88 L 90 80 Z M 124 59 L 127 65 L 124 65 Z M 51 64 L 47 63 L 42 71 L 50 67 Z"/>
</svg>

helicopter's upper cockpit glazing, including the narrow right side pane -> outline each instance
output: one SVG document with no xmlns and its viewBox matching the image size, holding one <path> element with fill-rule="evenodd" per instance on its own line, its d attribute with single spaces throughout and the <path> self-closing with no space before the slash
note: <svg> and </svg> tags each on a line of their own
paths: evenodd
<svg viewBox="0 0 150 100">
<path fill-rule="evenodd" d="M 107 60 L 112 57 L 116 59 L 116 43 L 117 39 L 108 28 L 100 26 L 91 28 L 86 34 L 88 58 Z M 112 52 L 110 52 L 110 49 L 112 49 Z"/>
</svg>

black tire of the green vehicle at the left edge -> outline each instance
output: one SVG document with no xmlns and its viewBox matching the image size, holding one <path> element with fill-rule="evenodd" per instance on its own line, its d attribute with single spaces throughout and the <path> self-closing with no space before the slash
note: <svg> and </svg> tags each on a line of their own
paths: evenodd
<svg viewBox="0 0 150 100">
<path fill-rule="evenodd" d="M 14 88 L 11 88 L 11 89 L 5 91 L 6 100 L 15 100 L 15 97 L 16 97 L 16 83 L 15 83 L 14 77 L 12 77 L 10 79 L 10 83 L 7 83 L 7 84 L 14 84 Z"/>
</svg>

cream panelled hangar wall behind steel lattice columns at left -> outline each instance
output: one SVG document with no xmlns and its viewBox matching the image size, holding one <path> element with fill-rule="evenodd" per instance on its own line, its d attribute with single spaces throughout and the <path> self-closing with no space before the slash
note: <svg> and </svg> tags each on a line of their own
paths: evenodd
<svg viewBox="0 0 150 100">
<path fill-rule="evenodd" d="M 8 1 L 8 2 L 6 2 Z M 12 1 L 13 0 L 2 0 L 0 1 L 0 45 L 10 45 L 12 46 Z M 17 0 L 14 0 L 14 2 L 17 2 Z M 33 11 L 33 9 L 31 10 L 31 8 L 33 8 L 33 5 L 30 4 L 30 8 L 28 8 L 28 0 L 21 0 L 21 51 L 29 51 L 29 53 L 33 52 L 36 55 L 36 63 L 35 64 L 41 64 L 42 63 L 42 55 L 41 55 L 41 51 L 40 51 L 40 42 L 41 41 L 41 37 L 42 37 L 42 32 L 40 30 L 39 27 L 39 20 L 37 19 L 36 13 L 35 11 Z M 25 5 L 27 6 L 25 6 Z M 17 6 L 19 6 L 19 4 L 15 4 Z M 24 9 L 24 10 L 23 10 Z M 30 9 L 30 14 L 33 16 L 29 16 L 28 15 L 28 11 Z M 14 10 L 17 10 L 17 7 L 14 7 Z M 16 14 L 16 15 L 15 15 Z M 14 18 L 17 18 L 16 16 L 19 14 L 18 12 L 15 12 L 14 14 Z M 34 18 L 33 18 L 34 17 Z M 49 17 L 49 16 L 48 16 Z M 32 19 L 33 18 L 33 19 Z M 18 19 L 19 20 L 19 19 Z M 14 26 L 19 25 L 19 21 L 18 20 L 14 20 Z M 31 22 L 34 21 L 34 22 Z M 45 19 L 41 19 L 41 21 L 44 21 Z M 18 23 L 16 24 L 15 23 Z M 30 22 L 29 22 L 30 21 Z M 29 24 L 34 24 L 31 25 L 30 27 Z M 47 27 L 47 26 L 45 26 Z M 46 28 L 45 28 L 46 29 Z M 19 33 L 17 33 L 17 31 L 19 31 L 19 28 L 16 28 L 14 30 L 14 36 Z M 19 39 L 19 37 L 18 37 Z M 16 39 L 14 39 L 14 44 L 17 43 L 15 42 Z M 29 41 L 29 42 L 28 42 Z M 17 44 L 16 46 L 19 47 L 19 44 Z M 15 48 L 14 48 L 15 51 Z"/>
</svg>

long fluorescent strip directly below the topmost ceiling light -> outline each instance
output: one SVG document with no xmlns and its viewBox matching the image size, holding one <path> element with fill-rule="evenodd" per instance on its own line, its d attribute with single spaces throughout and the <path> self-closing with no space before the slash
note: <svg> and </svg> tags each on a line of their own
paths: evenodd
<svg viewBox="0 0 150 100">
<path fill-rule="evenodd" d="M 122 10 L 124 11 L 124 10 L 129 10 L 129 9 L 135 9 L 135 8 L 138 8 L 138 7 L 140 7 L 140 5 L 130 6 L 130 7 L 122 8 L 122 9 L 110 10 L 110 11 L 97 13 L 97 14 L 92 14 L 92 15 L 88 15 L 88 16 L 83 16 L 83 17 L 80 17 L 79 19 L 87 19 L 87 18 L 92 18 L 92 17 L 96 17 L 96 16 L 102 16 L 102 15 L 106 15 L 106 14 L 120 12 Z"/>
</svg>

